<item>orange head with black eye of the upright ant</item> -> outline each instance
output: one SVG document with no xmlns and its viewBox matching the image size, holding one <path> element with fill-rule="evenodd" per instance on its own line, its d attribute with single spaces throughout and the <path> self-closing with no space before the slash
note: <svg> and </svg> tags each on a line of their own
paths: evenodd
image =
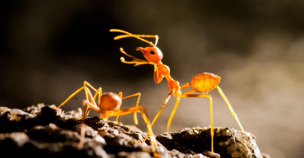
<svg viewBox="0 0 304 158">
<path fill-rule="evenodd" d="M 153 47 L 136 47 L 137 50 L 140 50 L 143 53 L 143 56 L 150 62 L 157 64 L 163 58 L 163 53 L 156 46 Z"/>
</svg>

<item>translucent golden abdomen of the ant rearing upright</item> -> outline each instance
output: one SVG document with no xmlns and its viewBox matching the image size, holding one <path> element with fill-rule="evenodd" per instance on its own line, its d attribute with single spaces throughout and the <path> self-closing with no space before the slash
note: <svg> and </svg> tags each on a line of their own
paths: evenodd
<svg viewBox="0 0 304 158">
<path fill-rule="evenodd" d="M 220 80 L 221 77 L 215 74 L 203 72 L 191 78 L 190 86 L 196 92 L 205 93 L 215 88 Z"/>
</svg>

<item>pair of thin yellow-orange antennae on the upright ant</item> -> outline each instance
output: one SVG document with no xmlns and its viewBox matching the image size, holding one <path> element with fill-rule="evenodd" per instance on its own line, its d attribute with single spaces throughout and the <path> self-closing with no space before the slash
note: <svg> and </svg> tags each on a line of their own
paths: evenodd
<svg viewBox="0 0 304 158">
<path fill-rule="evenodd" d="M 116 37 L 114 37 L 114 40 L 118 40 L 120 38 L 126 38 L 126 37 L 135 37 L 141 41 L 144 41 L 148 44 L 150 44 L 151 46 L 156 46 L 157 42 L 158 42 L 158 36 L 157 35 L 133 35 L 127 31 L 123 31 L 123 30 L 119 30 L 119 29 L 111 29 L 110 32 L 121 32 L 121 33 L 125 33 L 126 35 L 118 35 Z M 147 41 L 143 38 L 140 38 L 140 37 L 152 37 L 152 38 L 155 38 L 155 44 L 153 44 L 152 42 L 150 41 Z"/>
</svg>

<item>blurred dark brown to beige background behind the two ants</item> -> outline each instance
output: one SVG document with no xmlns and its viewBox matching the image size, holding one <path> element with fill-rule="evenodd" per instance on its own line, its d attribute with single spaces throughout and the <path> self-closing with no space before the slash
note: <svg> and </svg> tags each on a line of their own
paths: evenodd
<svg viewBox="0 0 304 158">
<path fill-rule="evenodd" d="M 140 92 L 153 119 L 169 93 L 154 83 L 153 66 L 123 64 L 119 48 L 143 58 L 135 38 L 120 33 L 159 35 L 171 76 L 184 84 L 201 72 L 221 77 L 219 86 L 244 129 L 271 157 L 303 153 L 304 1 L 7 1 L 2 5 L 0 106 L 58 106 L 88 81 L 103 92 Z M 154 39 L 148 39 L 154 42 Z M 125 57 L 126 60 L 131 60 Z M 190 89 L 187 89 L 190 90 Z M 214 90 L 214 126 L 239 129 Z M 63 110 L 76 110 L 82 91 Z M 122 108 L 135 106 L 136 97 Z M 171 97 L 153 126 L 165 132 L 175 103 Z M 98 116 L 93 110 L 90 116 Z M 114 120 L 115 118 L 110 118 Z M 138 127 L 147 131 L 141 115 Z M 134 124 L 133 115 L 120 117 Z M 210 125 L 207 98 L 182 98 L 170 130 Z"/>
</svg>

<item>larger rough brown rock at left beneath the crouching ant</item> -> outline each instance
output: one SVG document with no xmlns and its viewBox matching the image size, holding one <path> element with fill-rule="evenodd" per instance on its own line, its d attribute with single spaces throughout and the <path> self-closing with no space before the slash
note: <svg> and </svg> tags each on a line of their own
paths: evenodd
<svg viewBox="0 0 304 158">
<path fill-rule="evenodd" d="M 55 105 L 43 104 L 23 110 L 0 107 L 0 150 L 6 156 L 116 157 L 119 152 L 135 151 L 146 151 L 136 153 L 137 156 L 153 156 L 149 140 L 147 143 L 137 140 L 143 140 L 145 133 L 133 131 L 128 126 L 88 117 L 84 120 L 88 125 L 85 126 L 84 145 L 78 149 L 81 110 L 66 114 Z"/>
</svg>

